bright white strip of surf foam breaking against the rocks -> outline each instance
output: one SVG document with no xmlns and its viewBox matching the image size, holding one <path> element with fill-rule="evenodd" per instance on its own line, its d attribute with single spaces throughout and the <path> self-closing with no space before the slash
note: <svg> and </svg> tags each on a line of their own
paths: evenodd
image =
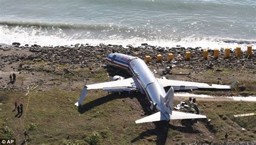
<svg viewBox="0 0 256 145">
<path fill-rule="evenodd" d="M 37 43 L 22 43 L 22 42 L 10 42 L 10 44 L 4 44 L 0 43 L 0 47 L 11 47 L 11 46 L 18 46 L 18 47 L 33 47 L 33 46 L 41 46 L 41 47 L 79 47 L 82 46 L 92 46 L 97 47 L 100 45 L 105 46 L 122 46 L 123 48 L 129 48 L 129 47 L 143 47 L 145 44 L 150 47 L 160 47 L 160 48 L 176 48 L 176 47 L 183 47 L 183 48 L 198 48 L 198 49 L 224 49 L 224 48 L 230 48 L 231 50 L 234 50 L 237 46 L 241 47 L 241 50 L 247 50 L 247 46 L 251 45 L 253 49 L 255 49 L 256 46 L 256 40 L 216 40 L 216 41 L 207 41 L 207 40 L 192 40 L 192 41 L 158 41 L 158 40 L 147 40 L 147 41 L 127 41 L 127 40 L 103 40 L 102 42 L 100 40 L 97 40 L 91 42 L 90 40 L 87 43 L 83 43 L 82 41 L 72 42 L 71 44 L 65 44 L 65 45 L 58 45 L 63 43 L 58 43 L 55 45 L 41 45 Z"/>
</svg>

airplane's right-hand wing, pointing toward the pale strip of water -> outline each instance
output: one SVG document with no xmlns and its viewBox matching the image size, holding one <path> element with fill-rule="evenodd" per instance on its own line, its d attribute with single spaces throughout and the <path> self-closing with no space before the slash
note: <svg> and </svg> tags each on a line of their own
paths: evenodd
<svg viewBox="0 0 256 145">
<path fill-rule="evenodd" d="M 237 81 L 233 82 L 231 85 L 218 85 L 218 84 L 207 84 L 207 83 L 197 83 L 197 82 L 187 82 L 187 81 L 176 81 L 171 79 L 157 78 L 157 81 L 166 86 L 172 86 L 174 90 L 194 90 L 194 89 L 232 89 Z"/>
</svg>

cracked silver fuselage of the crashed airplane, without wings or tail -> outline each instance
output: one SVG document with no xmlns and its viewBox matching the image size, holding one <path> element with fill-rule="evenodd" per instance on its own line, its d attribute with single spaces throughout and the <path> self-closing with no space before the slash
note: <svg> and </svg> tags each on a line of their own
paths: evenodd
<svg viewBox="0 0 256 145">
<path fill-rule="evenodd" d="M 157 110 L 164 113 L 167 118 L 170 118 L 164 104 L 166 95 L 164 87 L 158 83 L 156 77 L 154 77 L 143 60 L 125 54 L 113 53 L 106 57 L 106 62 L 109 65 L 129 70 L 133 79 L 135 79 L 134 82 L 137 88 L 140 88 L 140 92 L 147 96 Z"/>
</svg>

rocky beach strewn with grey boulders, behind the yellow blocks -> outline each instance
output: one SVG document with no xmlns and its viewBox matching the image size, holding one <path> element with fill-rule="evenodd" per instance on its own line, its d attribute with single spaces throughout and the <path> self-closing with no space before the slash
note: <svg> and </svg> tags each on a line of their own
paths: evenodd
<svg viewBox="0 0 256 145">
<path fill-rule="evenodd" d="M 256 66 L 256 49 L 253 49 L 252 56 L 247 58 L 246 52 L 242 52 L 240 57 L 235 57 L 235 49 L 231 50 L 230 58 L 224 58 L 224 48 L 220 49 L 218 59 L 213 58 L 213 50 L 208 49 L 208 59 L 203 59 L 203 49 L 176 47 L 157 47 L 142 44 L 140 47 L 128 45 L 125 48 L 117 45 L 80 45 L 73 46 L 19 46 L 18 42 L 14 42 L 13 46 L 1 46 L 0 55 L 0 71 L 2 75 L 6 71 L 17 71 L 21 74 L 34 74 L 36 72 L 45 71 L 52 74 L 62 74 L 62 71 L 71 73 L 72 69 L 89 69 L 89 73 L 102 70 L 105 67 L 105 57 L 110 53 L 123 53 L 127 55 L 137 56 L 140 59 L 145 59 L 146 55 L 151 56 L 151 61 L 147 63 L 152 70 L 159 70 L 161 74 L 163 69 L 170 66 L 176 66 L 178 69 L 188 70 L 188 73 L 201 75 L 207 70 L 225 71 L 240 71 L 244 66 L 244 70 L 248 70 L 255 77 Z M 191 53 L 191 59 L 185 60 L 185 52 Z M 173 54 L 173 60 L 167 61 L 167 55 Z M 161 54 L 163 61 L 157 61 L 156 56 Z M 63 68 L 66 67 L 66 68 Z M 68 72 L 70 70 L 70 72 Z M 6 74 L 7 75 L 7 74 Z M 238 74 L 237 74 L 238 75 Z M 236 75 L 233 75 L 236 77 Z M 8 88 L 8 78 L 1 78 L 1 88 Z M 253 78 L 253 77 L 252 77 Z M 80 79 L 79 77 L 77 79 Z M 86 79 L 86 78 L 83 78 Z M 219 78 L 220 79 L 220 78 Z M 250 78 L 248 78 L 250 79 Z M 217 78 L 216 78 L 217 80 Z M 191 80 L 192 81 L 192 80 Z M 254 80 L 255 81 L 255 80 Z M 47 82 L 46 82 L 47 83 Z"/>
</svg>

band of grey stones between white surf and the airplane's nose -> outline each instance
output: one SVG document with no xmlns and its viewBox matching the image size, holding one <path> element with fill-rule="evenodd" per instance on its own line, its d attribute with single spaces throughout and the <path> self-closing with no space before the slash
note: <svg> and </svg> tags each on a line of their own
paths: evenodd
<svg viewBox="0 0 256 145">
<path fill-rule="evenodd" d="M 224 67 L 235 70 L 240 70 L 245 63 L 245 68 L 254 69 L 256 66 L 256 57 L 254 49 L 252 56 L 246 56 L 246 52 L 242 52 L 240 57 L 235 57 L 235 50 L 231 50 L 231 57 L 224 58 L 224 48 L 220 49 L 220 55 L 218 59 L 213 59 L 213 50 L 208 49 L 208 59 L 203 60 L 203 49 L 198 48 L 184 48 L 184 47 L 155 47 L 147 44 L 142 44 L 139 47 L 133 47 L 128 45 L 127 48 L 117 45 L 74 45 L 74 46 L 56 46 L 56 47 L 41 47 L 38 45 L 32 46 L 1 46 L 0 50 L 6 52 L 15 50 L 17 52 L 30 52 L 28 54 L 8 54 L 3 55 L 0 53 L 1 62 L 0 68 L 4 68 L 5 65 L 22 62 L 22 61 L 34 61 L 34 62 L 47 62 L 48 64 L 77 64 L 81 68 L 98 69 L 104 67 L 105 57 L 110 53 L 123 53 L 127 55 L 137 56 L 140 59 L 144 59 L 145 55 L 151 56 L 151 61 L 148 65 L 151 68 L 166 68 L 172 64 L 175 64 L 179 68 L 191 69 L 194 72 L 204 71 L 213 67 Z M 32 52 L 32 53 L 31 53 Z M 185 60 L 185 52 L 191 53 L 191 59 Z M 173 54 L 173 61 L 167 61 L 167 55 Z M 157 61 L 157 54 L 163 56 L 163 61 Z M 29 70 L 30 66 L 19 66 L 17 70 Z M 1 69 L 1 71 L 4 71 Z"/>
</svg>

